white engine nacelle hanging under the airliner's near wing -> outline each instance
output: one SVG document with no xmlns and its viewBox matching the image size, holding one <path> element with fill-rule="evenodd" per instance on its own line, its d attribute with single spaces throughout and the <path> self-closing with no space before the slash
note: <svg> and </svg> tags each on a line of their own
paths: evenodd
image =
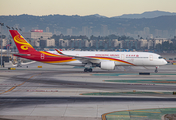
<svg viewBox="0 0 176 120">
<path fill-rule="evenodd" d="M 100 68 L 104 70 L 114 70 L 115 63 L 114 61 L 105 61 L 100 63 Z"/>
</svg>

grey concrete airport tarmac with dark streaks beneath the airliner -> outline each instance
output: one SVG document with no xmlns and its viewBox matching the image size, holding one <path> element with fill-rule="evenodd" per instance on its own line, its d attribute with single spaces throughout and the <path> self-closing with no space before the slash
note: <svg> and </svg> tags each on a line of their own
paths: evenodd
<svg viewBox="0 0 176 120">
<path fill-rule="evenodd" d="M 83 68 L 37 62 L 16 70 L 0 68 L 0 119 L 100 120 L 103 114 L 113 111 L 173 108 L 176 96 L 172 94 L 104 96 L 83 93 L 172 93 L 176 91 L 175 68 L 174 65 L 162 66 L 157 74 L 154 68 L 145 67 L 117 67 L 115 71 L 95 69 L 92 73 L 84 73 Z M 139 75 L 139 71 L 151 71 L 151 75 Z M 133 80 L 137 82 L 130 82 Z M 174 82 L 171 84 L 171 81 Z"/>
</svg>

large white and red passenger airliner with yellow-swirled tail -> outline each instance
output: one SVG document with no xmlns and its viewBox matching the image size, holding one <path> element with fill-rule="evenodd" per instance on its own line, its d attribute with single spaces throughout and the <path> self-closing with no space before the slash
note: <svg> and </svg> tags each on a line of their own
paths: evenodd
<svg viewBox="0 0 176 120">
<path fill-rule="evenodd" d="M 149 52 L 104 52 L 104 51 L 36 51 L 17 30 L 9 30 L 18 53 L 13 55 L 53 65 L 85 67 L 84 72 L 92 72 L 93 67 L 114 70 L 115 66 L 158 66 L 167 62 L 160 55 Z"/>
</svg>

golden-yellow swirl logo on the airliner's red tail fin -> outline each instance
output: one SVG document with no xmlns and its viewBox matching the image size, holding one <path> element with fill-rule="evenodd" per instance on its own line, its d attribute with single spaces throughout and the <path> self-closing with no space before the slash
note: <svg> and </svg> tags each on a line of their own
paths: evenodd
<svg viewBox="0 0 176 120">
<path fill-rule="evenodd" d="M 18 44 L 21 44 L 22 50 L 28 50 L 28 48 L 33 48 L 22 36 L 16 35 L 14 41 Z"/>
</svg>

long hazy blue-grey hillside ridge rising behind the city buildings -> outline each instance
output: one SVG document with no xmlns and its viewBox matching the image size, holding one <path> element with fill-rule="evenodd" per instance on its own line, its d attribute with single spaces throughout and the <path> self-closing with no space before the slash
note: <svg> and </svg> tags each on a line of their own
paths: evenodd
<svg viewBox="0 0 176 120">
<path fill-rule="evenodd" d="M 72 29 L 73 35 L 80 35 L 83 32 L 100 35 L 103 32 L 108 33 L 134 33 L 141 31 L 144 27 L 150 28 L 150 33 L 155 29 L 168 30 L 169 34 L 174 34 L 176 29 L 176 15 L 160 16 L 155 18 L 107 18 L 91 16 L 66 16 L 66 15 L 48 15 L 48 16 L 0 16 L 0 21 L 11 27 L 19 27 L 25 31 L 31 29 L 43 29 L 49 27 L 49 30 L 59 31 L 66 34 L 67 29 Z"/>
</svg>

